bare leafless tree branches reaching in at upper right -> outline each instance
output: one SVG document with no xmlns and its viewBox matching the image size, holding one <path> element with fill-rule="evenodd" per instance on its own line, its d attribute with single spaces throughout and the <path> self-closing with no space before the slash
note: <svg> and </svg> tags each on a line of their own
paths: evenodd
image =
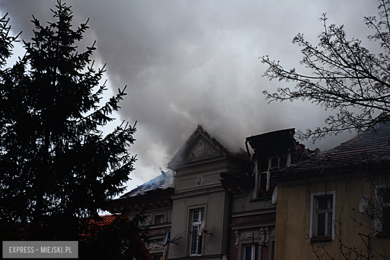
<svg viewBox="0 0 390 260">
<path fill-rule="evenodd" d="M 326 26 L 323 14 L 324 31 L 319 35 L 317 46 L 311 45 L 297 34 L 292 42 L 303 47 L 302 65 L 312 70 L 312 75 L 296 72 L 295 68 L 284 69 L 279 61 L 262 56 L 261 62 L 269 67 L 263 76 L 279 81 L 296 82 L 295 89 L 279 87 L 276 92 L 263 93 L 270 101 L 310 100 L 325 109 L 336 109 L 338 113 L 329 115 L 327 127 L 317 127 L 306 132 L 298 131 L 300 138 L 311 137 L 313 141 L 327 134 L 337 134 L 355 129 L 358 132 L 388 123 L 390 119 L 390 2 L 380 0 L 379 21 L 375 16 L 364 17 L 365 24 L 374 30 L 368 39 L 379 42 L 382 53 L 375 56 L 355 38 L 347 39 L 343 26 Z M 353 113 L 351 108 L 359 110 Z"/>
</svg>

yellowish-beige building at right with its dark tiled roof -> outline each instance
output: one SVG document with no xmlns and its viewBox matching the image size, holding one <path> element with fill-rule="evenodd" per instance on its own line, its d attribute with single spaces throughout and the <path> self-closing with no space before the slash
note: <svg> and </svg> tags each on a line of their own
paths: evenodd
<svg viewBox="0 0 390 260">
<path fill-rule="evenodd" d="M 275 259 L 390 258 L 389 138 L 382 126 L 271 177 Z"/>
</svg>

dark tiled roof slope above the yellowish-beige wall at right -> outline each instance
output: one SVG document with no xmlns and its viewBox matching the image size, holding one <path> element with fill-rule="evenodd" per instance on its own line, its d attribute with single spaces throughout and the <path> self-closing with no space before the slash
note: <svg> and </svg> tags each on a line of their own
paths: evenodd
<svg viewBox="0 0 390 260">
<path fill-rule="evenodd" d="M 388 170 L 390 168 L 390 127 L 363 132 L 319 156 L 276 172 L 272 180 L 286 181 L 324 175 Z"/>
</svg>

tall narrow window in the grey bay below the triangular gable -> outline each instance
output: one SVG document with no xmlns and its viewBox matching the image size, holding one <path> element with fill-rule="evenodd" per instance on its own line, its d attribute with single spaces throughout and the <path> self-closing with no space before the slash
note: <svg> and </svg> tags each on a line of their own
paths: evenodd
<svg viewBox="0 0 390 260">
<path fill-rule="evenodd" d="M 191 246 L 189 255 L 199 255 L 202 251 L 202 236 L 199 235 L 200 225 L 204 220 L 204 209 L 192 210 L 191 214 Z"/>
</svg>

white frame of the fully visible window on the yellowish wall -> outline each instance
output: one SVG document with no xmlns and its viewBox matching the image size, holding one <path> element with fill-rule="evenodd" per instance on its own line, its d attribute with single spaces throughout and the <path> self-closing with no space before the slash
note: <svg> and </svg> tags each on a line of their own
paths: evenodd
<svg viewBox="0 0 390 260">
<path fill-rule="evenodd" d="M 316 209 L 317 209 L 317 197 L 321 197 L 321 196 L 328 196 L 328 195 L 332 195 L 332 227 L 331 227 L 331 237 L 332 237 L 332 240 L 334 239 L 334 216 L 335 216 L 335 202 L 336 202 L 336 191 L 335 190 L 332 190 L 332 191 L 323 191 L 323 192 L 315 192 L 315 193 L 311 193 L 311 198 L 310 198 L 310 231 L 309 231 L 309 237 L 312 238 L 312 237 L 321 237 L 321 236 L 317 236 L 316 232 L 317 232 L 317 221 L 316 221 L 316 218 L 317 218 L 317 212 L 316 212 Z M 326 223 L 327 221 L 325 221 Z M 325 229 L 326 230 L 326 229 Z M 326 236 L 330 236 L 330 235 L 326 235 Z"/>
</svg>

